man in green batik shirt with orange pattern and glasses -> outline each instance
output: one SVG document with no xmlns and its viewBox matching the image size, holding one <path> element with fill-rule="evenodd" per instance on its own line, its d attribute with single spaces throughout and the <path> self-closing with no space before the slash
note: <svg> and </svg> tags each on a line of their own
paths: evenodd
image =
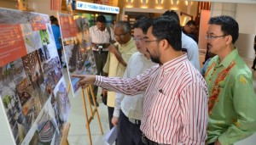
<svg viewBox="0 0 256 145">
<path fill-rule="evenodd" d="M 207 45 L 217 54 L 208 64 L 207 144 L 233 144 L 256 131 L 256 95 L 252 72 L 238 54 L 238 24 L 230 16 L 209 20 Z"/>
</svg>

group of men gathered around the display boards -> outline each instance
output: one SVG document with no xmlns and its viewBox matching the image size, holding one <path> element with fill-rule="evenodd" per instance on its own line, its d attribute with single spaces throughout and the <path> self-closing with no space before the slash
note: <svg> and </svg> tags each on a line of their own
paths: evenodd
<svg viewBox="0 0 256 145">
<path fill-rule="evenodd" d="M 232 17 L 209 20 L 207 48 L 215 56 L 203 75 L 197 43 L 187 36 L 195 23 L 182 27 L 175 11 L 137 20 L 134 36 L 128 22 L 119 21 L 108 32 L 104 16 L 98 17 L 103 27 L 90 28 L 91 42 L 96 61 L 103 54 L 106 60 L 100 60 L 100 69 L 96 63 L 97 75 L 73 77 L 81 87 L 101 86 L 102 96 L 108 96 L 117 145 L 224 145 L 256 131 L 253 75 L 238 54 L 239 25 Z M 103 43 L 100 52 L 96 46 Z"/>
</svg>

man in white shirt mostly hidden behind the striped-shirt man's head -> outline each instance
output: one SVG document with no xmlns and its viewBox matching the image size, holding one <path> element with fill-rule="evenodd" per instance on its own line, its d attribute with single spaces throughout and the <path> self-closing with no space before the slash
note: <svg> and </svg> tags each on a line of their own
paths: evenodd
<svg viewBox="0 0 256 145">
<path fill-rule="evenodd" d="M 175 11 L 167 10 L 163 15 L 167 15 L 169 17 L 175 18 L 179 22 L 178 15 Z M 199 61 L 199 50 L 197 43 L 190 38 L 189 36 L 185 35 L 182 32 L 182 48 L 186 51 L 188 55 L 189 62 L 195 66 L 196 70 L 200 71 L 200 61 Z"/>
</svg>

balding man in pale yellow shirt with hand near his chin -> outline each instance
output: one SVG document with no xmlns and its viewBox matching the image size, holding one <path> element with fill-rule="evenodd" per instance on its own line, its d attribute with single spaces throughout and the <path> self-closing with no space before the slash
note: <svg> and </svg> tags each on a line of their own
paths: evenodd
<svg viewBox="0 0 256 145">
<path fill-rule="evenodd" d="M 103 71 L 109 77 L 123 77 L 128 60 L 137 52 L 136 44 L 131 36 L 131 25 L 125 21 L 119 21 L 114 25 L 114 38 L 116 43 L 108 47 L 108 59 Z M 106 92 L 105 92 L 106 93 Z M 110 129 L 113 127 L 113 109 L 115 92 L 108 92 L 108 120 Z"/>
</svg>

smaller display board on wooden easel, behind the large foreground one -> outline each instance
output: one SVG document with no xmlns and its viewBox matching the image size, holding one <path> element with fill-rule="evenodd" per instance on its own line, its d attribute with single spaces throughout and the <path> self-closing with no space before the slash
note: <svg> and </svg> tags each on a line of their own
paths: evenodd
<svg viewBox="0 0 256 145">
<path fill-rule="evenodd" d="M 86 16 L 59 14 L 61 36 L 67 62 L 68 75 L 96 74 L 96 64 L 89 40 Z M 79 89 L 79 78 L 70 77 L 73 93 Z"/>
</svg>

